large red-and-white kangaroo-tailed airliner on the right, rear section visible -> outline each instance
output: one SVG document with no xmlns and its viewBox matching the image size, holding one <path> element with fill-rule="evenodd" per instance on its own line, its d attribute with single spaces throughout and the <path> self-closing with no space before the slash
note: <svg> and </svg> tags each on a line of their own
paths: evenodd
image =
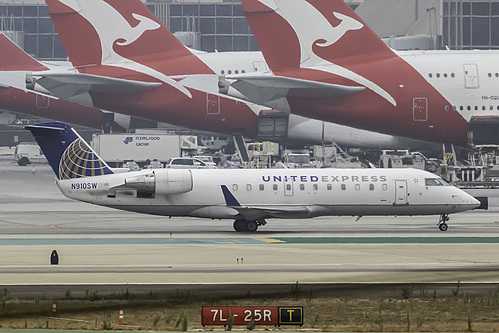
<svg viewBox="0 0 499 333">
<path fill-rule="evenodd" d="M 463 146 L 470 122 L 499 119 L 497 51 L 395 52 L 344 0 L 241 2 L 272 72 L 227 76 L 229 95 Z"/>
</svg>

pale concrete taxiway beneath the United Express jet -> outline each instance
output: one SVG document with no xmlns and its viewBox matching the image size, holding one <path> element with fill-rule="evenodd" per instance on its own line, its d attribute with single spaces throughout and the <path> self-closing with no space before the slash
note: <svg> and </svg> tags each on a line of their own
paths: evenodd
<svg viewBox="0 0 499 333">
<path fill-rule="evenodd" d="M 66 199 L 48 165 L 0 159 L 0 284 L 499 282 L 499 205 L 451 216 L 232 221 Z M 50 265 L 57 250 L 59 264 Z"/>
</svg>

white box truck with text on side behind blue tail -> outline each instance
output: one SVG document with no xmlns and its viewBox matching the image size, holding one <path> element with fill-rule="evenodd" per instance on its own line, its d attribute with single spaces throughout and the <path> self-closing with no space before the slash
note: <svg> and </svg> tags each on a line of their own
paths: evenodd
<svg viewBox="0 0 499 333">
<path fill-rule="evenodd" d="M 134 161 L 141 167 L 157 160 L 195 155 L 198 149 L 195 135 L 174 134 L 95 134 L 92 149 L 113 167 Z"/>
</svg>

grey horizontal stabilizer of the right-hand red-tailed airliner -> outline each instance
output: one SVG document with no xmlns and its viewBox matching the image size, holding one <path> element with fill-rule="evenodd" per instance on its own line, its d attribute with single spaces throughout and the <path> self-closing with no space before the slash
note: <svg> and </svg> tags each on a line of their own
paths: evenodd
<svg viewBox="0 0 499 333">
<path fill-rule="evenodd" d="M 278 106 L 275 103 L 286 97 L 337 98 L 364 89 L 361 86 L 344 86 L 266 73 L 227 76 L 219 80 L 220 93 L 268 107 Z"/>
</svg>

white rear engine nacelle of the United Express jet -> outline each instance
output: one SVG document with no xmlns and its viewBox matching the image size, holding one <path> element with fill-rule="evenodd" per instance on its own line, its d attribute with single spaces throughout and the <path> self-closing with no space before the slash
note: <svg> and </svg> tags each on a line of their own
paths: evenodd
<svg viewBox="0 0 499 333">
<path fill-rule="evenodd" d="M 169 195 L 192 190 L 190 170 L 158 169 L 125 179 L 125 186 L 136 190 Z"/>
</svg>

